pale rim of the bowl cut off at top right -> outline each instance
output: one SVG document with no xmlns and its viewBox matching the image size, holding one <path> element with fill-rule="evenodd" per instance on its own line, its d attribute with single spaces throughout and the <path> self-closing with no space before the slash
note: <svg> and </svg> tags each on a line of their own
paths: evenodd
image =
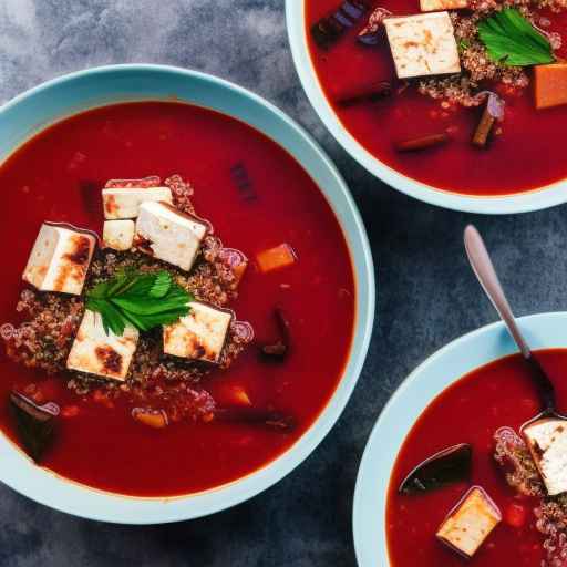
<svg viewBox="0 0 567 567">
<path fill-rule="evenodd" d="M 369 173 L 394 189 L 431 205 L 464 213 L 504 215 L 528 213 L 567 202 L 567 179 L 508 195 L 467 195 L 436 188 L 390 167 L 372 155 L 343 126 L 327 99 L 313 66 L 307 40 L 305 7 L 307 0 L 286 0 L 286 23 L 291 55 L 303 91 L 327 130 L 343 150 Z"/>
</svg>

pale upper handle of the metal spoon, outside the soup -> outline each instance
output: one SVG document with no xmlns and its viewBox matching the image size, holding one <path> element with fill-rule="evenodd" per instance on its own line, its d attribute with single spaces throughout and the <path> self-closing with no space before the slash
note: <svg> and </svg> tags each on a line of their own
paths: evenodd
<svg viewBox="0 0 567 567">
<path fill-rule="evenodd" d="M 484 245 L 483 237 L 478 234 L 478 230 L 476 230 L 473 225 L 468 225 L 465 228 L 464 240 L 468 261 L 471 262 L 473 271 L 478 278 L 481 286 L 483 287 L 484 292 L 486 296 L 488 296 L 488 299 L 492 301 L 492 305 L 496 311 L 498 311 L 501 319 L 508 328 L 509 333 L 516 341 L 516 344 L 518 346 L 524 358 L 530 359 L 532 352 L 526 341 L 524 340 L 524 337 L 522 337 L 518 326 L 516 324 L 514 313 L 512 312 L 508 300 L 504 295 L 501 281 L 496 270 L 494 269 L 491 257 L 488 256 L 486 246 Z"/>
</svg>

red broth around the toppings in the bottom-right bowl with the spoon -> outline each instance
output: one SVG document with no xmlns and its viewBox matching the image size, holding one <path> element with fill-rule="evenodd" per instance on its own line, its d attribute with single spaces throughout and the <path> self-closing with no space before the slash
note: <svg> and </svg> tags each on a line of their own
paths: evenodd
<svg viewBox="0 0 567 567">
<path fill-rule="evenodd" d="M 561 410 L 567 409 L 567 349 L 538 351 L 537 359 L 554 380 Z M 537 501 L 517 496 L 493 457 L 495 431 L 506 425 L 518 431 L 539 411 L 536 390 L 519 354 L 471 372 L 433 400 L 408 435 L 392 473 L 386 512 L 392 567 L 539 567 L 544 538 L 535 528 L 533 508 Z M 439 526 L 468 483 L 416 496 L 398 493 L 400 483 L 414 466 L 457 443 L 473 445 L 472 484 L 486 489 L 504 517 L 468 561 L 435 538 Z M 514 527 L 508 522 L 514 523 L 511 515 L 518 504 L 526 509 L 527 522 Z"/>
</svg>

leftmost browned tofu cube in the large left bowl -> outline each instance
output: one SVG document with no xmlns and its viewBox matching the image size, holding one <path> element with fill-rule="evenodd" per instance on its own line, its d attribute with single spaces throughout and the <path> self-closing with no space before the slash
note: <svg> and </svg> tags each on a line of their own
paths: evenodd
<svg viewBox="0 0 567 567">
<path fill-rule="evenodd" d="M 40 291 L 81 295 L 96 246 L 93 234 L 44 223 L 22 279 Z"/>
</svg>

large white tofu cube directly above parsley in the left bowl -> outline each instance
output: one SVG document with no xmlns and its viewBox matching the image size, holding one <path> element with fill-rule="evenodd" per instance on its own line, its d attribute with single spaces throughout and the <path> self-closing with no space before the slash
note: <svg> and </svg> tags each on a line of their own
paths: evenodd
<svg viewBox="0 0 567 567">
<path fill-rule="evenodd" d="M 166 203 L 143 203 L 136 220 L 137 250 L 189 271 L 208 226 Z"/>
</svg>

